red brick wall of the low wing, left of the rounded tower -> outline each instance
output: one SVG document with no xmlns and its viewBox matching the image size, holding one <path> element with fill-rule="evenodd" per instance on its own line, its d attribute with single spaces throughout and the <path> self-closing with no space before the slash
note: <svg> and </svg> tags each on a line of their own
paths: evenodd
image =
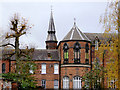
<svg viewBox="0 0 120 90">
<path fill-rule="evenodd" d="M 11 62 L 11 65 L 14 65 L 15 61 Z M 37 85 L 41 86 L 42 79 L 46 80 L 46 88 L 54 88 L 54 80 L 57 79 L 59 81 L 59 74 L 54 74 L 54 64 L 59 65 L 59 61 L 35 61 L 37 65 L 37 70 L 33 75 L 37 80 Z M 41 74 L 41 64 L 46 63 L 46 74 Z M 12 67 L 14 68 L 14 66 Z M 11 69 L 13 70 L 13 69 Z"/>
</svg>

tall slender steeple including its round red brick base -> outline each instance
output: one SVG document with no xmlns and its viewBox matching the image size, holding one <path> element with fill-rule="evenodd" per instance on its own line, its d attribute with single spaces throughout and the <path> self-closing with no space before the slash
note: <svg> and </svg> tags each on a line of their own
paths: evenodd
<svg viewBox="0 0 120 90">
<path fill-rule="evenodd" d="M 56 49 L 57 47 L 57 38 L 55 35 L 55 25 L 54 25 L 54 19 L 53 19 L 53 12 L 51 8 L 51 16 L 49 21 L 49 27 L 48 27 L 48 35 L 46 40 L 46 49 Z"/>
</svg>

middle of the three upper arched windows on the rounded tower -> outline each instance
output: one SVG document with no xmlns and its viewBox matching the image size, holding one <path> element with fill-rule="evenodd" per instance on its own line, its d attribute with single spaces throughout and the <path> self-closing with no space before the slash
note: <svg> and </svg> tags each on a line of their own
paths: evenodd
<svg viewBox="0 0 120 90">
<path fill-rule="evenodd" d="M 80 44 L 76 42 L 74 44 L 74 63 L 80 63 Z"/>
</svg>

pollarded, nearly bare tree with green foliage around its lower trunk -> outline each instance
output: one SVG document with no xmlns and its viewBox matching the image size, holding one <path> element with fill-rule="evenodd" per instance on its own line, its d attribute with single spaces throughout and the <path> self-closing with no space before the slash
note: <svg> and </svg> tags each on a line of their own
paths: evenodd
<svg viewBox="0 0 120 90">
<path fill-rule="evenodd" d="M 7 53 L 7 58 L 12 57 L 13 55 L 15 56 L 16 60 L 16 68 L 15 68 L 15 73 L 10 72 L 8 74 L 4 74 L 3 76 L 6 79 L 12 79 L 13 81 L 17 82 L 20 84 L 22 87 L 34 87 L 34 77 L 30 77 L 31 74 L 29 74 L 29 69 L 33 65 L 31 63 L 31 57 L 30 53 L 34 51 L 34 48 L 28 49 L 26 48 L 25 50 L 20 49 L 20 37 L 25 35 L 27 31 L 31 28 L 31 26 L 28 25 L 28 20 L 25 18 L 20 18 L 18 14 L 15 14 L 14 17 L 11 18 L 10 20 L 10 32 L 8 32 L 5 36 L 5 39 L 14 39 L 14 43 L 6 43 L 1 45 L 1 47 L 6 47 L 6 46 L 11 46 L 14 48 L 12 53 Z M 24 61 L 25 60 L 25 61 Z M 26 63 L 26 62 L 29 63 Z M 34 67 L 33 67 L 34 68 Z M 35 68 L 34 68 L 35 69 Z M 33 81 L 31 83 L 31 81 Z"/>
</svg>

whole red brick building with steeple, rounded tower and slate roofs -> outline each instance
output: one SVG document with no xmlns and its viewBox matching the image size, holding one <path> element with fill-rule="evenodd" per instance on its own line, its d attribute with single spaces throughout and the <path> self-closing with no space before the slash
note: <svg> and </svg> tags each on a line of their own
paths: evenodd
<svg viewBox="0 0 120 90">
<path fill-rule="evenodd" d="M 35 72 L 30 71 L 37 77 L 38 86 L 44 88 L 80 89 L 84 85 L 82 76 L 92 68 L 95 58 L 95 49 L 102 34 L 82 33 L 74 22 L 68 34 L 57 43 L 56 30 L 53 14 L 51 12 L 46 49 L 36 49 L 32 53 L 32 59 L 37 64 Z M 96 37 L 98 37 L 96 39 Z M 96 44 L 96 45 L 94 45 Z M 2 59 L 2 73 L 7 73 L 15 64 L 14 56 L 10 60 Z M 4 88 L 12 87 L 11 82 L 5 84 Z"/>
</svg>

